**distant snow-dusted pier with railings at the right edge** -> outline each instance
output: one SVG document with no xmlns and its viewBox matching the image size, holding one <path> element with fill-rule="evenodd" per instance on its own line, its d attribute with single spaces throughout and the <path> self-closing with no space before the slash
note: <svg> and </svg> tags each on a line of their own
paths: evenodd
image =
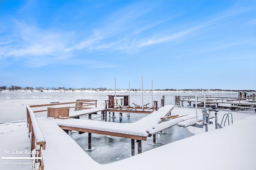
<svg viewBox="0 0 256 170">
<path fill-rule="evenodd" d="M 247 93 L 246 93 L 247 94 Z M 204 96 L 175 96 L 175 105 L 183 106 L 183 102 L 191 103 L 197 102 L 198 106 L 204 106 Z M 254 109 L 256 111 L 256 97 L 255 94 L 248 95 L 246 98 L 230 98 L 230 97 L 211 97 L 205 96 L 206 106 L 217 104 L 218 108 L 237 110 L 237 109 Z M 181 103 L 181 104 L 180 104 Z M 194 104 L 195 105 L 195 104 Z"/>
</svg>

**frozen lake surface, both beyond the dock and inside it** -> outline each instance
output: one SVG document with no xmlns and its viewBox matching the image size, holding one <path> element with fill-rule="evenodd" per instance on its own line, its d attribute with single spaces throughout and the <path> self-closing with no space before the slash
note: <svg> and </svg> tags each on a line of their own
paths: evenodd
<svg viewBox="0 0 256 170">
<path fill-rule="evenodd" d="M 112 93 L 113 94 L 113 93 Z M 118 93 L 120 94 L 120 93 Z M 127 93 L 124 93 L 127 94 Z M 70 102 L 76 99 L 97 99 L 98 105 L 104 104 L 104 100 L 108 100 L 106 93 L 0 93 L 0 123 L 1 122 L 13 122 L 22 121 L 26 119 L 26 105 L 32 104 L 49 104 L 50 102 Z M 154 93 L 153 100 L 158 100 L 160 105 L 160 99 L 165 96 L 165 104 L 174 104 L 174 96 L 177 95 L 194 95 L 194 93 Z M 237 93 L 207 93 L 206 95 L 212 96 L 226 96 L 226 97 L 237 97 Z M 198 94 L 200 96 L 200 94 Z M 202 96 L 202 94 L 201 94 Z M 142 105 L 141 93 L 131 93 L 130 102 Z M 144 104 L 151 102 L 151 93 L 144 93 Z M 132 104 L 130 104 L 133 106 Z M 46 113 L 36 113 L 36 116 L 45 116 Z M 112 115 L 112 113 L 111 113 Z M 135 122 L 146 114 L 134 114 L 130 116 L 123 113 L 122 117 L 119 117 L 119 113 L 115 113 L 115 117 L 109 117 L 108 121 L 119 122 L 119 123 L 132 123 Z M 88 116 L 81 117 L 81 119 L 88 119 Z M 93 120 L 101 121 L 102 117 L 100 114 L 92 115 Z M 152 137 L 148 137 L 147 141 L 142 141 L 142 152 L 150 149 L 171 143 L 186 137 L 190 137 L 193 134 L 188 131 L 187 128 L 183 127 L 170 127 L 165 129 L 163 133 L 156 134 L 156 144 L 153 144 Z M 70 137 L 80 145 L 83 150 L 88 148 L 88 133 L 78 134 L 78 132 L 70 133 Z M 94 160 L 100 164 L 107 164 L 122 160 L 130 157 L 131 154 L 131 140 L 117 137 L 109 137 L 106 135 L 92 134 L 92 146 L 95 150 L 92 152 L 86 152 Z M 135 148 L 137 148 L 135 143 Z M 136 154 L 137 154 L 137 150 Z"/>
</svg>

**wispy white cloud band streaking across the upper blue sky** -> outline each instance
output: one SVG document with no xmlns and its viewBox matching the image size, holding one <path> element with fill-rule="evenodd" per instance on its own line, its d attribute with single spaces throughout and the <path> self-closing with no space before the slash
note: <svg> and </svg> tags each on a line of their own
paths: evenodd
<svg viewBox="0 0 256 170">
<path fill-rule="evenodd" d="M 243 12 L 243 10 L 227 10 L 216 14 L 214 17 L 203 18 L 201 23 L 199 21 L 180 22 L 179 25 L 172 25 L 172 27 L 169 25 L 159 30 L 153 28 L 165 25 L 164 23 L 175 20 L 182 14 L 175 14 L 162 20 L 144 20 L 143 17 L 153 8 L 152 6 L 144 8 L 144 6 L 134 4 L 126 6 L 101 18 L 100 23 L 91 28 L 92 34 L 89 36 L 78 35 L 75 31 L 41 29 L 15 20 L 15 27 L 18 31 L 10 35 L 10 37 L 14 37 L 15 41 L 9 38 L 0 42 L 1 56 L 24 59 L 26 64 L 40 67 L 57 63 L 60 60 L 62 63 L 70 61 L 68 59 L 75 57 L 74 54 L 78 51 L 84 51 L 84 53 L 98 51 L 136 52 L 152 45 L 184 41 L 193 37 L 195 33 L 199 33 L 212 25 L 224 23 L 230 16 Z M 177 31 L 173 27 L 180 29 Z M 86 57 L 84 59 L 86 60 Z M 95 67 L 95 64 L 88 60 L 83 63 Z M 101 63 L 100 65 L 103 67 L 116 66 L 116 64 L 111 63 Z"/>
</svg>

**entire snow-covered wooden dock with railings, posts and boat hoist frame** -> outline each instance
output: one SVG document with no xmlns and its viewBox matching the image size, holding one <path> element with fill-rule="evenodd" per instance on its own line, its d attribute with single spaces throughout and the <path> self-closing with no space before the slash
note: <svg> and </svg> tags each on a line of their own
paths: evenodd
<svg viewBox="0 0 256 170">
<path fill-rule="evenodd" d="M 191 115 L 182 117 L 174 116 L 172 117 L 174 119 L 163 121 L 163 117 L 170 116 L 172 109 L 174 109 L 173 105 L 164 106 L 164 97 L 161 99 L 161 107 L 158 107 L 158 101 L 154 101 L 153 107 L 147 107 L 148 104 L 146 104 L 143 108 L 136 104 L 134 104 L 134 107 L 129 106 L 129 103 L 127 103 L 129 99 L 128 95 L 118 96 L 123 97 L 121 101 L 124 103 L 121 102 L 115 105 L 112 102 L 114 101 L 112 100 L 113 96 L 108 95 L 108 97 L 110 102 L 106 100 L 104 107 L 98 107 L 97 100 L 77 100 L 76 102 L 27 106 L 27 123 L 29 137 L 31 139 L 31 150 L 38 149 L 38 157 L 40 156 L 41 158 L 40 160 L 36 160 L 40 162 L 40 167 L 34 167 L 34 169 L 44 169 L 45 162 L 51 159 L 48 156 L 54 150 L 54 147 L 61 148 L 60 150 L 63 151 L 66 144 L 63 144 L 63 146 L 60 143 L 53 145 L 54 140 L 56 140 L 53 136 L 60 135 L 60 138 L 65 138 L 66 140 L 65 134 L 70 130 L 79 131 L 79 133 L 88 133 L 88 148 L 86 150 L 93 150 L 93 133 L 131 139 L 131 155 L 134 156 L 135 142 L 138 144 L 138 154 L 140 154 L 142 152 L 142 141 L 146 141 L 147 137 L 153 136 L 153 142 L 156 143 L 156 133 L 177 125 L 184 120 L 195 118 L 195 116 Z M 128 106 L 126 106 L 127 104 Z M 148 115 L 134 123 L 114 123 L 107 121 L 106 115 L 108 111 L 119 113 L 148 113 Z M 35 114 L 38 112 L 45 112 L 47 116 L 36 118 Z M 104 119 L 102 121 L 91 120 L 92 114 L 98 114 L 98 112 L 101 112 Z M 88 119 L 79 119 L 82 115 L 88 115 Z M 60 133 L 59 129 L 62 129 L 66 133 Z M 70 138 L 68 140 L 72 139 Z M 44 156 L 44 159 L 42 156 Z"/>
</svg>

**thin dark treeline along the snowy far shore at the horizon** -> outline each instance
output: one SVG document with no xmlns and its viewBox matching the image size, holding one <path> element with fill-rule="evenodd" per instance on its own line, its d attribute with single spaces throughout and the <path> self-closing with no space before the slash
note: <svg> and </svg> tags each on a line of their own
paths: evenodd
<svg viewBox="0 0 256 170">
<path fill-rule="evenodd" d="M 52 88 L 44 88 L 44 87 L 20 87 L 20 86 L 10 86 L 10 87 L 6 87 L 6 86 L 0 86 L 0 90 L 10 90 L 10 91 L 18 91 L 18 90 L 96 90 L 96 91 L 105 91 L 105 90 L 113 90 L 113 89 L 108 89 L 108 88 L 65 88 L 65 87 L 52 87 Z M 117 90 L 128 90 L 128 89 L 117 89 Z M 140 91 L 141 89 L 130 89 L 131 91 Z M 255 92 L 255 90 L 223 90 L 223 89 L 202 89 L 202 88 L 198 88 L 198 89 L 154 89 L 156 91 L 187 91 L 187 92 L 191 92 L 191 91 L 197 91 L 197 92 L 203 92 L 203 91 L 223 91 L 223 92 L 238 92 L 238 91 L 242 91 L 242 92 Z"/>
</svg>

